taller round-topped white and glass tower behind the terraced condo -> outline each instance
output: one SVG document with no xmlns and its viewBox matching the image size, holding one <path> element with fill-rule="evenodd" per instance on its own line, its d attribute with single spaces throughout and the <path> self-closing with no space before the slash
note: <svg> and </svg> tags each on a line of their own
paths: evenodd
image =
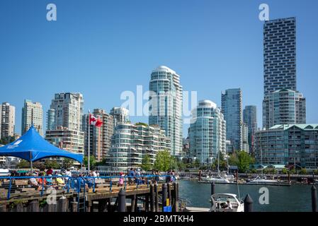
<svg viewBox="0 0 318 226">
<path fill-rule="evenodd" d="M 182 153 L 182 86 L 166 66 L 154 69 L 149 82 L 149 125 L 158 125 L 171 139 L 171 154 Z"/>
</svg>

